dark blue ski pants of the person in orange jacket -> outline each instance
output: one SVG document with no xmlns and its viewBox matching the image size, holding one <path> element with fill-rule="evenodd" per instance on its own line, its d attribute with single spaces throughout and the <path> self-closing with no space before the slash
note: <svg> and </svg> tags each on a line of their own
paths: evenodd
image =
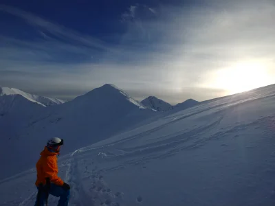
<svg viewBox="0 0 275 206">
<path fill-rule="evenodd" d="M 69 190 L 64 189 L 61 186 L 51 184 L 49 194 L 53 196 L 60 197 L 58 201 L 58 206 L 67 206 L 69 202 Z M 47 194 L 45 192 L 40 192 L 39 197 L 36 198 L 34 206 L 44 206 Z"/>
</svg>

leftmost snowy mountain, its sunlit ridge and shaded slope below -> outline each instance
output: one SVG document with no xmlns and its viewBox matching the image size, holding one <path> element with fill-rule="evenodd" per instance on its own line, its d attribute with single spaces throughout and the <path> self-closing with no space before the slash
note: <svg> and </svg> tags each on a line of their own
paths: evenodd
<svg viewBox="0 0 275 206">
<path fill-rule="evenodd" d="M 1 139 L 17 139 L 31 119 L 44 113 L 46 106 L 63 104 L 63 100 L 25 93 L 19 89 L 0 87 Z"/>
</svg>

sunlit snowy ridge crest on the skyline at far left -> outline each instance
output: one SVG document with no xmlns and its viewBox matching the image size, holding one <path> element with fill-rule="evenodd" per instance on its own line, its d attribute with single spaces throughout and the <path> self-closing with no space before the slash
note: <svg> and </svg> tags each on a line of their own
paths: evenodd
<svg viewBox="0 0 275 206">
<path fill-rule="evenodd" d="M 65 102 L 64 100 L 59 100 L 56 98 L 47 98 L 39 95 L 33 95 L 19 89 L 0 87 L 0 96 L 4 95 L 21 95 L 23 98 L 31 102 L 36 102 L 37 104 L 43 104 L 43 106 L 52 106 L 56 104 L 63 104 Z"/>
</svg>

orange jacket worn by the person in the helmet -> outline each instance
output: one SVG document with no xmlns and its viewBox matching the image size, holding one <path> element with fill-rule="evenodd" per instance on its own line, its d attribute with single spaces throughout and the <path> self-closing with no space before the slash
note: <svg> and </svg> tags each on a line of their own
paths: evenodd
<svg viewBox="0 0 275 206">
<path fill-rule="evenodd" d="M 58 152 L 50 152 L 47 147 L 41 152 L 41 157 L 36 163 L 37 179 L 35 185 L 38 187 L 39 183 L 46 184 L 46 178 L 50 177 L 50 182 L 56 185 L 63 185 L 63 181 L 57 176 L 57 155 Z"/>
</svg>

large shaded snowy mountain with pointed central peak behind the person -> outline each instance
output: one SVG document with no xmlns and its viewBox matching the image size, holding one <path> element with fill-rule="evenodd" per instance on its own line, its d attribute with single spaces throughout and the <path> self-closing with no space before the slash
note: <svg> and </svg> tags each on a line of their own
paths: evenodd
<svg viewBox="0 0 275 206">
<path fill-rule="evenodd" d="M 20 110 L 22 107 L 14 114 L 26 111 L 30 115 L 24 121 L 19 121 L 17 130 L 10 130 L 11 126 L 14 128 L 14 124 L 18 124 L 17 117 L 12 116 L 2 122 L 0 117 L 1 126 L 10 125 L 2 127 L 6 136 L 1 139 L 6 143 L 0 145 L 0 156 L 3 157 L 11 149 L 17 151 L 4 160 L 10 170 L 0 171 L 1 176 L 33 165 L 36 154 L 50 137 L 66 139 L 63 150 L 66 153 L 133 128 L 155 113 L 111 84 L 105 84 L 65 104 L 43 107 L 40 111 Z M 26 142 L 28 147 L 22 147 Z M 18 155 L 28 158 L 18 163 Z"/>
</svg>

